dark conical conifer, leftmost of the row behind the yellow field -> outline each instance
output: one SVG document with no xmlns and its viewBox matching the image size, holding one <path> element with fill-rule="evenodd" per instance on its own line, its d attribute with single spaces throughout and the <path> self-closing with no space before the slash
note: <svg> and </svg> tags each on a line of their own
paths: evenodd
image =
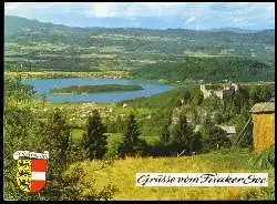
<svg viewBox="0 0 277 204">
<path fill-rule="evenodd" d="M 86 133 L 83 134 L 82 146 L 84 150 L 84 157 L 102 159 L 106 152 L 106 128 L 101 122 L 98 110 L 93 110 L 89 116 Z"/>
</svg>

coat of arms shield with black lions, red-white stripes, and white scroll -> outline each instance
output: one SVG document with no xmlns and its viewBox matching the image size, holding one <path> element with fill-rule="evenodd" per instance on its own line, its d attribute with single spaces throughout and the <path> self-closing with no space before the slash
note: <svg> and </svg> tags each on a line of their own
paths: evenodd
<svg viewBox="0 0 277 204">
<path fill-rule="evenodd" d="M 47 184 L 49 152 L 17 151 L 13 159 L 18 161 L 17 183 L 19 187 L 24 192 L 37 193 L 42 191 Z"/>
</svg>

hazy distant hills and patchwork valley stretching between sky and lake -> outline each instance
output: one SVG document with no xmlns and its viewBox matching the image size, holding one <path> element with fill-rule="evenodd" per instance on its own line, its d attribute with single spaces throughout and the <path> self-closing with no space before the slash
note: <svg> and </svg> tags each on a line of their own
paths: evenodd
<svg viewBox="0 0 277 204">
<path fill-rule="evenodd" d="M 240 57 L 274 65 L 275 30 L 239 33 L 228 30 L 71 28 L 12 16 L 4 18 L 6 69 L 141 70 L 178 63 L 187 57 L 220 57 L 218 60 Z M 267 71 L 261 74 L 271 73 Z"/>
</svg>

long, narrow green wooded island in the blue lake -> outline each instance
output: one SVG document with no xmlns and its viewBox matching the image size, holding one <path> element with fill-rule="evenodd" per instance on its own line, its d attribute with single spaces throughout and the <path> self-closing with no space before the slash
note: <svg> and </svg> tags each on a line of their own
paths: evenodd
<svg viewBox="0 0 277 204">
<path fill-rule="evenodd" d="M 134 91 L 143 90 L 141 85 L 120 85 L 120 84 L 104 84 L 104 85 L 71 85 L 61 89 L 52 89 L 54 94 L 88 94 L 94 92 L 112 92 L 112 91 Z"/>
</svg>

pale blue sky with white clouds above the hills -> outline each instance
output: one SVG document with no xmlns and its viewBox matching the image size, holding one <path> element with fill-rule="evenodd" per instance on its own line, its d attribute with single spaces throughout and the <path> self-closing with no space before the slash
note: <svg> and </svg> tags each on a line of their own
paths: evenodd
<svg viewBox="0 0 277 204">
<path fill-rule="evenodd" d="M 6 2 L 4 14 L 70 27 L 275 28 L 274 2 Z"/>
</svg>

